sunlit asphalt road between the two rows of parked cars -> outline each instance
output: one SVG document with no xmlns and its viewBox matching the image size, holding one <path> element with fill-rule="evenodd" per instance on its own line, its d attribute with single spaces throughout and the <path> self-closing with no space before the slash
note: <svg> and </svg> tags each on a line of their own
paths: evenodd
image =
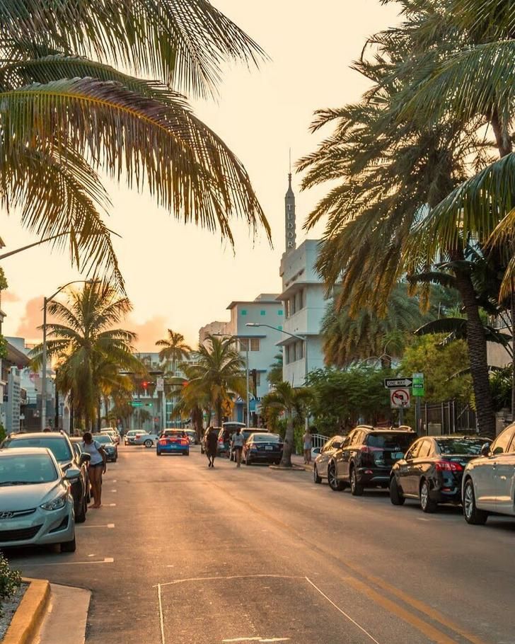
<svg viewBox="0 0 515 644">
<path fill-rule="evenodd" d="M 24 575 L 93 591 L 87 644 L 515 643 L 514 520 L 211 470 L 196 449 L 120 447 L 76 553 L 10 553 Z"/>
</svg>

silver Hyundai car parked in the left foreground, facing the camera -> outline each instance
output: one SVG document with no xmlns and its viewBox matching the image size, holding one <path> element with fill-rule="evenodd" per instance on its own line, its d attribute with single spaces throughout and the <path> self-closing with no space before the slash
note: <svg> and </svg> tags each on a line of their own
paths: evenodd
<svg viewBox="0 0 515 644">
<path fill-rule="evenodd" d="M 74 500 L 66 473 L 50 449 L 0 449 L 0 548 L 60 544 L 75 552 Z"/>
</svg>

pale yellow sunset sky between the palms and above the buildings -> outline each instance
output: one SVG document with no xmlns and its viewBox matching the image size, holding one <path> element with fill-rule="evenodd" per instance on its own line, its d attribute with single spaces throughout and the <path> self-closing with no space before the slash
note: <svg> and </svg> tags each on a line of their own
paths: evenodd
<svg viewBox="0 0 515 644">
<path fill-rule="evenodd" d="M 274 248 L 264 234 L 253 241 L 235 224 L 236 250 L 219 237 L 183 226 L 154 205 L 149 195 L 108 184 L 114 207 L 108 226 L 122 238 L 115 248 L 134 311 L 125 322 L 139 334 L 139 349 L 153 350 L 166 328 L 196 344 L 200 326 L 228 319 L 233 300 L 279 292 L 279 260 L 284 250 L 284 192 L 288 151 L 295 160 L 316 148 L 322 134 L 308 132 L 313 112 L 358 100 L 366 85 L 351 69 L 367 36 L 395 23 L 395 6 L 379 0 L 212 0 L 247 31 L 270 56 L 260 69 L 226 70 L 217 102 L 193 103 L 207 125 L 245 164 L 270 225 Z M 303 219 L 321 190 L 297 197 L 297 241 L 306 237 Z M 311 231 L 316 238 L 319 231 Z M 4 214 L 4 251 L 35 241 L 20 230 L 16 214 Z M 40 246 L 2 263 L 9 289 L 1 308 L 5 335 L 40 339 L 42 297 L 80 279 L 66 253 Z"/>
</svg>

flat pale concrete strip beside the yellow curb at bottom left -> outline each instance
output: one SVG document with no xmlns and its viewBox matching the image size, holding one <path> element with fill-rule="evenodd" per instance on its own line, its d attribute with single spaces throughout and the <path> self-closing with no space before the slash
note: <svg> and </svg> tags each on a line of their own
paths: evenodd
<svg viewBox="0 0 515 644">
<path fill-rule="evenodd" d="M 35 644 L 84 644 L 91 592 L 50 584 L 50 602 Z"/>
</svg>

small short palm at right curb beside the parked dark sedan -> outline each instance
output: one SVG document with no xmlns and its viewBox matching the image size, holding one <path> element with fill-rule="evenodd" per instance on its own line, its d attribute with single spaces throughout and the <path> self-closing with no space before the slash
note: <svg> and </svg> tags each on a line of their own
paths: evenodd
<svg viewBox="0 0 515 644">
<path fill-rule="evenodd" d="M 302 418 L 306 413 L 306 405 L 311 401 L 311 391 L 306 387 L 292 387 L 289 382 L 279 382 L 274 391 L 263 396 L 261 406 L 263 412 L 267 409 L 281 410 L 287 416 L 284 449 L 282 451 L 281 467 L 291 467 L 291 454 L 294 449 L 294 418 Z"/>
</svg>

